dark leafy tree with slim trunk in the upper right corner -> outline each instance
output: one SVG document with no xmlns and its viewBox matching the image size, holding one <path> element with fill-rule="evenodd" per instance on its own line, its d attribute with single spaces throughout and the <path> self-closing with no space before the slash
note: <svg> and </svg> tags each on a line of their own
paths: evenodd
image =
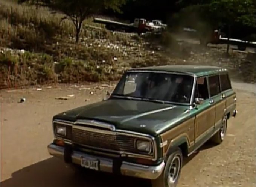
<svg viewBox="0 0 256 187">
<path fill-rule="evenodd" d="M 226 24 L 228 27 L 227 38 L 229 40 L 231 26 L 240 24 L 255 28 L 256 6 L 255 0 L 180 0 L 180 6 L 186 6 L 183 11 L 199 12 L 199 16 L 213 28 Z M 227 53 L 229 52 L 229 42 Z"/>
</svg>

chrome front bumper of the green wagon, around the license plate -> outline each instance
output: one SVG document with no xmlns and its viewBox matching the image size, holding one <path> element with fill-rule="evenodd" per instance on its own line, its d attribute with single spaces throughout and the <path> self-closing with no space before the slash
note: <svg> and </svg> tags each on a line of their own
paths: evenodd
<svg viewBox="0 0 256 187">
<path fill-rule="evenodd" d="M 64 158 L 64 147 L 57 146 L 55 144 L 48 145 L 48 152 L 55 157 Z M 88 155 L 80 151 L 73 151 L 72 163 L 81 165 L 81 157 L 88 159 L 99 160 L 99 171 L 112 173 L 113 160 L 109 158 L 96 157 Z M 156 179 L 161 175 L 165 168 L 165 162 L 163 161 L 158 166 L 145 166 L 141 164 L 134 164 L 129 162 L 122 162 L 120 171 L 122 175 L 133 176 L 144 179 Z"/>
</svg>

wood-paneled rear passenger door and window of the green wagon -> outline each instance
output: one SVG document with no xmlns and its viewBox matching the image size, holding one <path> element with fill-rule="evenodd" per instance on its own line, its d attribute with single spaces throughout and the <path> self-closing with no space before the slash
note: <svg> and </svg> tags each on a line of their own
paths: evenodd
<svg viewBox="0 0 256 187">
<path fill-rule="evenodd" d="M 226 110 L 226 100 L 225 97 L 221 94 L 219 75 L 209 76 L 208 81 L 210 102 L 215 106 L 214 130 L 216 131 L 221 125 L 224 112 Z"/>
</svg>

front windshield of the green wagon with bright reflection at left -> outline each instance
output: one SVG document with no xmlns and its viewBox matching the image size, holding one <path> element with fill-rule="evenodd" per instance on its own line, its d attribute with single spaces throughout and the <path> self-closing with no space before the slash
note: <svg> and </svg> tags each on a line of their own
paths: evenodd
<svg viewBox="0 0 256 187">
<path fill-rule="evenodd" d="M 160 72 L 126 72 L 113 97 L 189 104 L 194 77 Z"/>
</svg>

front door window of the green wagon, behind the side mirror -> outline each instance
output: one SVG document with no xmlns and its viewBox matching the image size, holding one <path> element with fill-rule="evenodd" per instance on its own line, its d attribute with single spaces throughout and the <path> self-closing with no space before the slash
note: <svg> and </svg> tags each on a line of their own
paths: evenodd
<svg viewBox="0 0 256 187">
<path fill-rule="evenodd" d="M 209 99 L 208 87 L 206 77 L 198 77 L 195 86 L 195 98 L 202 98 L 203 100 Z"/>
</svg>

